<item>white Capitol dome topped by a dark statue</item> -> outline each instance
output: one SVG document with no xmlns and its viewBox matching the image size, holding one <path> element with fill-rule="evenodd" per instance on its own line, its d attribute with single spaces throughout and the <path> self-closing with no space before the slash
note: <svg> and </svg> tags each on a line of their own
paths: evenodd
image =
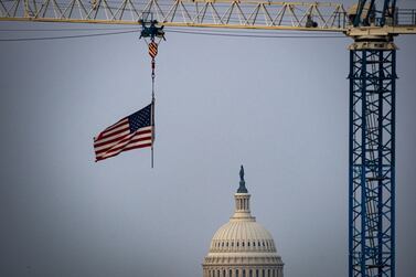
<svg viewBox="0 0 416 277">
<path fill-rule="evenodd" d="M 282 277 L 284 264 L 270 233 L 249 210 L 244 169 L 230 222 L 214 234 L 203 267 L 204 277 Z"/>
</svg>

